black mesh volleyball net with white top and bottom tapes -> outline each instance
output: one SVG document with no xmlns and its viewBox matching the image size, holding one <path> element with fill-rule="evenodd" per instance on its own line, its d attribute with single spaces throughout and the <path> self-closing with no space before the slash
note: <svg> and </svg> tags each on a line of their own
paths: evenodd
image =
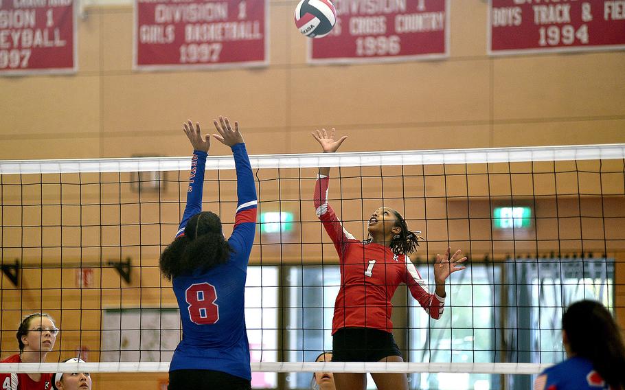
<svg viewBox="0 0 625 390">
<path fill-rule="evenodd" d="M 525 388 L 565 358 L 560 317 L 602 301 L 623 323 L 625 144 L 251 156 L 258 229 L 246 285 L 253 387 L 306 389 L 310 371 L 408 372 L 415 389 Z M 407 363 L 312 363 L 332 347 L 337 253 L 315 215 L 319 166 L 328 202 L 356 238 L 380 206 L 422 231 L 416 268 L 433 290 L 433 259 L 462 249 L 433 320 L 401 286 L 394 336 Z M 190 157 L 0 161 L 0 346 L 19 352 L 21 317 L 60 328 L 42 364 L 82 356 L 91 372 L 161 372 L 181 338 L 159 254 L 174 238 Z M 229 236 L 230 157 L 209 156 L 203 209 Z M 82 363 L 81 363 L 82 364 Z M 60 365 L 60 366 L 59 366 Z M 76 369 L 76 367 L 74 367 Z M 277 373 L 285 373 L 278 375 Z"/>
</svg>

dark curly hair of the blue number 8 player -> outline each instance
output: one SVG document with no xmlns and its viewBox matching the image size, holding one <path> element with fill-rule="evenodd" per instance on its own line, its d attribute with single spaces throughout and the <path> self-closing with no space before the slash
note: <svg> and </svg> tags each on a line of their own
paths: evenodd
<svg viewBox="0 0 625 390">
<path fill-rule="evenodd" d="M 193 271 L 208 271 L 225 264 L 232 249 L 221 231 L 217 214 L 204 211 L 192 216 L 185 227 L 184 236 L 174 240 L 161 253 L 159 265 L 166 279 L 188 275 Z"/>
</svg>

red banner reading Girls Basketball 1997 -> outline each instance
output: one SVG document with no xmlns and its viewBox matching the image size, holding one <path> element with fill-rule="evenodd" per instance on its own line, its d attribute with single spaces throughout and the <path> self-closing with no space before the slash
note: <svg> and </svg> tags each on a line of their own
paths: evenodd
<svg viewBox="0 0 625 390">
<path fill-rule="evenodd" d="M 267 0 L 135 0 L 139 70 L 267 65 Z"/>
</svg>

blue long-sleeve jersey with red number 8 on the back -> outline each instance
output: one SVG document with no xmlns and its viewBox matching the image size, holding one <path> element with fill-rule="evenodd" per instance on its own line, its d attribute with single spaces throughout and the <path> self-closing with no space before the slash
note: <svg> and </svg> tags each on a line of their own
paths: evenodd
<svg viewBox="0 0 625 390">
<path fill-rule="evenodd" d="M 249 343 L 245 328 L 245 280 L 256 222 L 256 189 L 245 144 L 232 146 L 236 166 L 237 196 L 234 231 L 228 239 L 230 259 L 206 272 L 174 277 L 183 339 L 170 371 L 211 369 L 251 379 Z M 202 211 L 202 190 L 207 153 L 194 151 L 187 205 L 177 238 L 188 220 Z"/>
</svg>

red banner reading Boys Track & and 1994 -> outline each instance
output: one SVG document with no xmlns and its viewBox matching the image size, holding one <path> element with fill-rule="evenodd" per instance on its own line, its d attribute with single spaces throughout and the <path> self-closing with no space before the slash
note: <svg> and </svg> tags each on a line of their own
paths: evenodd
<svg viewBox="0 0 625 390">
<path fill-rule="evenodd" d="M 625 1 L 489 0 L 488 54 L 625 48 Z"/>
</svg>

